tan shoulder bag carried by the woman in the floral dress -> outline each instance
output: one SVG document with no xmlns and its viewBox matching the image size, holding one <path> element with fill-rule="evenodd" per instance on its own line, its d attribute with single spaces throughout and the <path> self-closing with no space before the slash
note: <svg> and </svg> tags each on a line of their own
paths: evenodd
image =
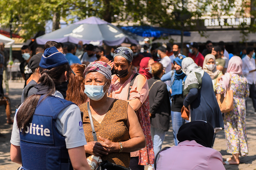
<svg viewBox="0 0 256 170">
<path fill-rule="evenodd" d="M 230 82 L 231 82 L 231 75 L 230 75 Z M 217 94 L 217 102 L 220 107 L 220 111 L 222 113 L 230 112 L 234 109 L 234 99 L 233 99 L 233 90 L 230 90 L 230 82 L 229 87 L 226 92 L 226 96 L 224 94 Z"/>
</svg>

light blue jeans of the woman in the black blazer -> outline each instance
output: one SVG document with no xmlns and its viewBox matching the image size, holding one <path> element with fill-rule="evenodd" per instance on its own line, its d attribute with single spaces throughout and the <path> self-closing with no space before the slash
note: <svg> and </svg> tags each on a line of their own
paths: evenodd
<svg viewBox="0 0 256 170">
<path fill-rule="evenodd" d="M 162 149 L 162 144 L 164 141 L 164 137 L 166 135 L 166 131 L 164 131 L 161 128 L 155 128 L 155 127 L 151 127 L 150 131 L 151 131 L 151 136 L 153 141 L 153 149 L 156 156 L 157 152 L 159 152 Z"/>
</svg>

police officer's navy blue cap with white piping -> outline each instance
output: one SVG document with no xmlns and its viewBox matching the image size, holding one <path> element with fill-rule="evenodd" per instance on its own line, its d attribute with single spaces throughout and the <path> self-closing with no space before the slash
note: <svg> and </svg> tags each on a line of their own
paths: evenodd
<svg viewBox="0 0 256 170">
<path fill-rule="evenodd" d="M 50 70 L 54 67 L 58 67 L 66 63 L 68 63 L 68 60 L 64 54 L 59 52 L 56 47 L 50 47 L 45 50 L 44 54 L 42 54 L 39 66 Z M 71 73 L 76 75 L 72 69 Z"/>
</svg>

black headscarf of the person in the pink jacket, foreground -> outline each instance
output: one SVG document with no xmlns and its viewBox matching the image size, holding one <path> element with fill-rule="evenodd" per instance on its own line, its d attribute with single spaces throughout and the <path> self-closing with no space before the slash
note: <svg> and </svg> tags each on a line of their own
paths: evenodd
<svg viewBox="0 0 256 170">
<path fill-rule="evenodd" d="M 180 142 L 195 140 L 198 144 L 211 148 L 214 137 L 214 128 L 209 122 L 196 120 L 180 126 L 177 139 Z"/>
</svg>

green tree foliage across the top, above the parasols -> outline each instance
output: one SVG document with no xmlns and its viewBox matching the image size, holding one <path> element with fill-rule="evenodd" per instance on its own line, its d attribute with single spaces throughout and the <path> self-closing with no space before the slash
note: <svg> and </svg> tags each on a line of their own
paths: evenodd
<svg viewBox="0 0 256 170">
<path fill-rule="evenodd" d="M 241 3 L 239 3 L 241 1 Z M 195 20 L 202 16 L 244 15 L 248 0 L 2 0 L 0 23 L 12 24 L 14 33 L 20 29 L 28 39 L 45 30 L 45 23 L 53 20 L 53 30 L 59 28 L 59 20 L 73 22 L 96 16 L 119 24 L 154 25 L 165 28 L 193 28 Z M 254 1 L 252 1 L 254 2 Z M 254 2 L 255 3 L 255 2 Z M 255 10 L 251 12 L 256 16 Z M 67 17 L 68 16 L 68 17 Z M 250 31 L 256 28 L 252 22 Z M 244 29 L 244 28 L 241 28 Z"/>
</svg>

